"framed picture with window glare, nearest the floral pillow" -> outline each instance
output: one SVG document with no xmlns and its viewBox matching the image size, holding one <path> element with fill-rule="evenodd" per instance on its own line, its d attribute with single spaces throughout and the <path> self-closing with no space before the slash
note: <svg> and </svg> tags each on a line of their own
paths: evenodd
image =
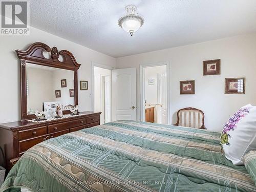
<svg viewBox="0 0 256 192">
<path fill-rule="evenodd" d="M 225 78 L 225 94 L 245 94 L 245 78 Z"/>
</svg>

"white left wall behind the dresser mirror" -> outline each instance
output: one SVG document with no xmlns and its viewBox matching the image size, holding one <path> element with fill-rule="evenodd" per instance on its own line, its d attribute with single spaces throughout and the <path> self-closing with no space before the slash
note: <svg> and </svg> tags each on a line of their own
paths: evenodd
<svg viewBox="0 0 256 192">
<path fill-rule="evenodd" d="M 113 57 L 32 27 L 29 36 L 0 36 L 0 123 L 20 120 L 19 61 L 15 50 L 25 50 L 33 42 L 38 41 L 50 47 L 55 46 L 59 51 L 70 51 L 81 64 L 78 70 L 78 83 L 79 80 L 88 80 L 89 89 L 80 91 L 78 88 L 80 111 L 92 109 L 92 61 L 115 67 L 116 60 Z"/>
</svg>

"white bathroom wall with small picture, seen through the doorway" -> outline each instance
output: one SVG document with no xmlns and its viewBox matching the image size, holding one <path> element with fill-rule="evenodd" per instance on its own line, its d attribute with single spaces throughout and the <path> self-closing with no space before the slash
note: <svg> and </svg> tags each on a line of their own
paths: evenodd
<svg viewBox="0 0 256 192">
<path fill-rule="evenodd" d="M 166 66 L 144 68 L 145 100 L 150 104 L 157 104 L 157 74 L 166 73 Z M 154 84 L 148 84 L 148 79 L 154 79 Z"/>
</svg>

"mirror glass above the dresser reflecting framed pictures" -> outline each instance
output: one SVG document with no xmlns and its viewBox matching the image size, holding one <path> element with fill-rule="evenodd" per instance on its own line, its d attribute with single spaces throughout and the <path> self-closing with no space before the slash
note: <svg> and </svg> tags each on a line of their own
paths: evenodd
<svg viewBox="0 0 256 192">
<path fill-rule="evenodd" d="M 74 72 L 27 63 L 27 109 L 52 111 L 74 108 Z"/>
</svg>

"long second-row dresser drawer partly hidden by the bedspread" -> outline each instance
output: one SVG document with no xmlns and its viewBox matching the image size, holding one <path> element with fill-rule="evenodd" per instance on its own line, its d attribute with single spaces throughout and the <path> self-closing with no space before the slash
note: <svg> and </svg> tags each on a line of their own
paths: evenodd
<svg viewBox="0 0 256 192">
<path fill-rule="evenodd" d="M 34 139 L 27 139 L 27 140 L 19 141 L 19 154 L 23 154 L 23 152 L 27 151 L 30 147 L 32 147 L 42 141 L 51 139 L 53 137 L 58 137 L 60 135 L 66 134 L 66 133 L 69 133 L 69 130 L 60 131 L 60 132 L 57 132 L 54 134 L 47 134 L 44 136 L 36 137 Z"/>
</svg>

